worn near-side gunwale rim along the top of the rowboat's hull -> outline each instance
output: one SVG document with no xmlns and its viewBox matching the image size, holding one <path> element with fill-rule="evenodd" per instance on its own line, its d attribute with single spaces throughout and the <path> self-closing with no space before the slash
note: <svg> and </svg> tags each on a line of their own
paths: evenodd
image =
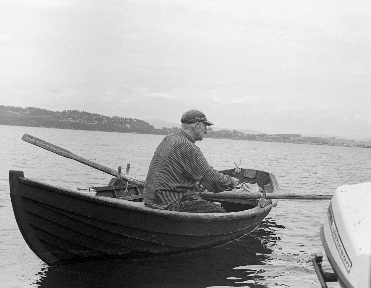
<svg viewBox="0 0 371 288">
<path fill-rule="evenodd" d="M 269 173 L 270 174 L 270 173 Z M 272 203 L 268 204 L 264 208 L 254 207 L 251 209 L 238 211 L 238 212 L 225 212 L 225 213 L 191 213 L 191 212 L 178 212 L 178 211 L 167 211 L 160 209 L 153 209 L 144 206 L 141 202 L 133 202 L 117 198 L 108 198 L 108 197 L 99 197 L 86 195 L 82 192 L 76 192 L 55 185 L 43 183 L 34 179 L 19 177 L 18 181 L 25 185 L 34 186 L 37 188 L 50 190 L 52 192 L 60 193 L 63 195 L 68 195 L 74 198 L 80 198 L 87 201 L 109 205 L 120 209 L 127 209 L 139 213 L 145 213 L 150 215 L 167 217 L 169 221 L 178 221 L 178 222 L 188 222 L 188 221 L 197 221 L 197 222 L 210 222 L 210 221 L 229 221 L 235 219 L 250 218 L 252 216 L 260 215 L 277 205 L 278 200 L 272 200 Z M 11 192 L 12 193 L 12 192 Z M 24 196 L 23 196 L 24 197 Z M 40 201 L 42 202 L 42 201 Z M 43 202 L 42 202 L 43 203 Z M 139 204 L 140 203 L 140 204 Z"/>
</svg>

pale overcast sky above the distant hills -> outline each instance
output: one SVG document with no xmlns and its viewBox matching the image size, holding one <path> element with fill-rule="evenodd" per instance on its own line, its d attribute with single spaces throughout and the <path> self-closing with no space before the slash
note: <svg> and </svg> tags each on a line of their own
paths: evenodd
<svg viewBox="0 0 371 288">
<path fill-rule="evenodd" d="M 0 105 L 371 137 L 370 1 L 0 0 Z"/>
</svg>

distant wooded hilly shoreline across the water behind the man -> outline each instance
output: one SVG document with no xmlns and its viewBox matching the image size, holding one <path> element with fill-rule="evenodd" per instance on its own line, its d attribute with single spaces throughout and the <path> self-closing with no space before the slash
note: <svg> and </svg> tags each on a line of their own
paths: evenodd
<svg viewBox="0 0 371 288">
<path fill-rule="evenodd" d="M 111 117 L 78 110 L 55 112 L 35 107 L 22 108 L 4 105 L 0 105 L 0 125 L 152 135 L 168 135 L 180 130 L 178 127 L 154 128 L 148 122 L 135 118 Z M 204 138 L 371 148 L 371 142 L 356 142 L 335 137 L 303 137 L 299 134 L 245 134 L 238 130 L 214 131 L 212 128 L 208 129 Z"/>
</svg>

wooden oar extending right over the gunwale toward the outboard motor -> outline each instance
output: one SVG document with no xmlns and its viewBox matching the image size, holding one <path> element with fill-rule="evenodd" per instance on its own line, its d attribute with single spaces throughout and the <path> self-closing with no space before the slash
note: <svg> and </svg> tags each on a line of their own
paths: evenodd
<svg viewBox="0 0 371 288">
<path fill-rule="evenodd" d="M 238 192 L 238 191 L 227 191 L 220 193 L 213 193 L 205 191 L 201 194 L 204 199 L 220 199 L 220 198 L 229 198 L 229 199 L 259 199 L 263 198 L 262 192 Z M 303 193 L 290 193 L 290 194 L 281 194 L 281 193 L 266 193 L 266 199 L 312 199 L 312 200 L 329 200 L 331 195 L 306 195 Z"/>
</svg>

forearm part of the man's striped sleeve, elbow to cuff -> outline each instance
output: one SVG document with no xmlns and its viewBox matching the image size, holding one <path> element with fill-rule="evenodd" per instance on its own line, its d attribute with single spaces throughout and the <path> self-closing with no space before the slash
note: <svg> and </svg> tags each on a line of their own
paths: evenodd
<svg viewBox="0 0 371 288">
<path fill-rule="evenodd" d="M 219 193 L 233 187 L 232 178 L 229 175 L 219 173 L 215 169 L 209 169 L 201 179 L 201 184 L 210 192 Z"/>
</svg>

